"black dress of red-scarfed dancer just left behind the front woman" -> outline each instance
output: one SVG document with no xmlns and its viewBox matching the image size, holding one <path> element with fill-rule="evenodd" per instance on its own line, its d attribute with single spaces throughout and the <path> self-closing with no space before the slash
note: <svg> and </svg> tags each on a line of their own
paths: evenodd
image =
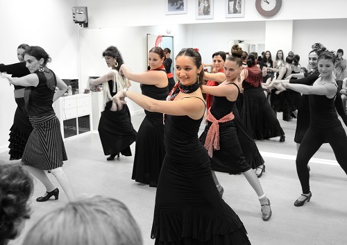
<svg viewBox="0 0 347 245">
<path fill-rule="evenodd" d="M 149 71 L 149 72 L 160 72 Z M 141 85 L 142 94 L 153 99 L 164 101 L 169 94 L 168 87 L 156 87 L 155 85 Z M 137 131 L 135 145 L 135 158 L 132 179 L 156 187 L 164 160 L 164 124 L 162 113 L 144 110 L 146 117 Z"/>
</svg>

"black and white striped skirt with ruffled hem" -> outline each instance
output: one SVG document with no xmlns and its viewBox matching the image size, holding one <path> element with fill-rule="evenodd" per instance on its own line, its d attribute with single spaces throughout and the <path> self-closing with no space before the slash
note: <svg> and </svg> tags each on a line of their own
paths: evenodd
<svg viewBox="0 0 347 245">
<path fill-rule="evenodd" d="M 67 160 L 60 122 L 56 115 L 30 117 L 33 132 L 24 149 L 22 163 L 37 169 L 56 169 Z"/>
</svg>

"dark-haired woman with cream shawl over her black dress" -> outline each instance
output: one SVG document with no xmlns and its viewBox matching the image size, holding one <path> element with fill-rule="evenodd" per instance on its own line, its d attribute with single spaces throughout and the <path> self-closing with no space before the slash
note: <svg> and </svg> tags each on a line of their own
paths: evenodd
<svg viewBox="0 0 347 245">
<path fill-rule="evenodd" d="M 130 81 L 119 75 L 118 71 L 123 65 L 123 58 L 117 47 L 110 46 L 103 51 L 103 58 L 111 71 L 99 78 L 91 80 L 93 85 L 103 84 L 103 107 L 99 122 L 99 135 L 103 145 L 103 153 L 110 155 L 107 160 L 115 159 L 119 153 L 130 156 L 130 144 L 136 140 L 136 130 L 130 119 L 130 111 L 127 105 L 122 110 L 112 111 L 112 96 L 124 87 L 130 87 Z"/>
</svg>

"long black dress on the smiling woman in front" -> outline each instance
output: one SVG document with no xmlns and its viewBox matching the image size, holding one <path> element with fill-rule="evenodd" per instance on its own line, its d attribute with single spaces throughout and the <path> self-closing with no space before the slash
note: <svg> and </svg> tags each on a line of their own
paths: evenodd
<svg viewBox="0 0 347 245">
<path fill-rule="evenodd" d="M 155 244 L 251 244 L 237 214 L 221 198 L 198 120 L 167 115 L 166 155 L 155 196 Z"/>
</svg>

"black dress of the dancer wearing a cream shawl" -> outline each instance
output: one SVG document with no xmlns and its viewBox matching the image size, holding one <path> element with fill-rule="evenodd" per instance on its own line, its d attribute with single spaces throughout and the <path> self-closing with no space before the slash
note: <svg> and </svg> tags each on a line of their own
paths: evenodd
<svg viewBox="0 0 347 245">
<path fill-rule="evenodd" d="M 110 95 L 117 94 L 117 85 L 115 92 L 113 91 L 112 80 L 108 81 Z M 104 91 L 105 92 L 105 91 Z M 130 111 L 128 105 L 124 105 L 121 110 L 111 111 L 112 101 L 108 101 L 105 105 L 105 110 L 101 112 L 99 121 L 99 136 L 103 146 L 105 155 L 113 155 L 121 153 L 122 155 L 130 156 L 130 145 L 136 140 L 137 132 L 131 124 Z"/>
</svg>

